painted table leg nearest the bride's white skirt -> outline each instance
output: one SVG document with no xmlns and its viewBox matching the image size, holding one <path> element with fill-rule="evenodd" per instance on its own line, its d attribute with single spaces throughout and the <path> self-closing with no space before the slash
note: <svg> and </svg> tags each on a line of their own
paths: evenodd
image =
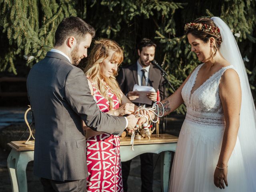
<svg viewBox="0 0 256 192">
<path fill-rule="evenodd" d="M 172 159 L 172 152 L 165 151 L 161 154 L 161 190 L 168 192 L 170 179 L 170 164 Z"/>
</svg>

